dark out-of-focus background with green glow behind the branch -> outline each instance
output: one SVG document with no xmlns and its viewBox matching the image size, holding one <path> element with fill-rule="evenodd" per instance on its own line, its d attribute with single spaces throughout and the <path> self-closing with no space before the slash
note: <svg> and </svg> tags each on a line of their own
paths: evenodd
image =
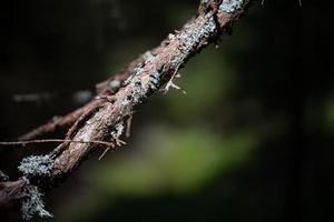
<svg viewBox="0 0 334 222">
<path fill-rule="evenodd" d="M 0 139 L 80 107 L 197 6 L 2 1 Z M 50 221 L 331 221 L 332 10 L 317 0 L 255 2 L 218 49 L 181 70 L 186 95 L 154 95 L 134 115 L 126 147 L 91 157 L 47 193 Z M 0 169 L 14 179 L 21 158 L 53 147 L 1 148 Z"/>
</svg>

